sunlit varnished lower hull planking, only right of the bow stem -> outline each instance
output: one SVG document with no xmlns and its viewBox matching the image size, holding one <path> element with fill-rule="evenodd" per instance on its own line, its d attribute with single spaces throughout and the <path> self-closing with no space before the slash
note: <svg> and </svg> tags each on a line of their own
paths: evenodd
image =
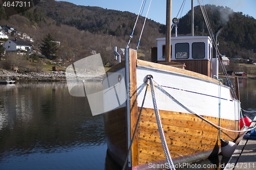
<svg viewBox="0 0 256 170">
<path fill-rule="evenodd" d="M 219 129 L 209 125 L 194 114 L 164 110 L 160 110 L 159 113 L 172 158 L 196 153 L 197 155 L 200 153 L 204 155 L 203 158 L 188 157 L 185 160 L 186 162 L 193 162 L 219 153 L 219 147 L 216 147 L 217 145 L 220 146 Z M 219 118 L 203 117 L 216 125 L 219 124 Z M 222 119 L 221 122 L 223 128 L 230 130 L 236 130 L 239 126 L 238 121 Z M 238 133 L 235 132 L 221 131 L 221 138 L 224 140 L 233 141 L 236 139 L 237 135 Z M 154 109 L 142 109 L 138 136 L 139 165 L 165 159 Z"/>
</svg>

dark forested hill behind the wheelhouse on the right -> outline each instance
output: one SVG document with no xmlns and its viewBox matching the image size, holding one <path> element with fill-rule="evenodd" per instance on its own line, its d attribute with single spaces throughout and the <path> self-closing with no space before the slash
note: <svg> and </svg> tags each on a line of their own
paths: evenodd
<svg viewBox="0 0 256 170">
<path fill-rule="evenodd" d="M 220 36 L 218 36 L 221 53 L 226 54 L 227 57 L 256 58 L 256 20 L 253 17 L 243 15 L 242 12 L 233 12 L 228 7 L 206 5 L 205 9 L 213 32 L 219 26 L 224 27 Z M 197 31 L 195 34 L 201 36 L 204 29 L 204 35 L 209 35 L 205 23 L 203 27 L 204 19 L 200 6 L 195 7 L 194 17 L 195 31 Z M 180 19 L 179 34 L 190 33 L 190 18 L 191 13 L 188 12 Z"/>
</svg>

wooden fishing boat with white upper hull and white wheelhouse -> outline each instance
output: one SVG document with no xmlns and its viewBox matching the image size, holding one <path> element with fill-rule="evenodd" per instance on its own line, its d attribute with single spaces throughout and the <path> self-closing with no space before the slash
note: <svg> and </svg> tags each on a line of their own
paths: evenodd
<svg viewBox="0 0 256 170">
<path fill-rule="evenodd" d="M 142 108 L 148 75 L 154 80 L 161 125 L 174 164 L 215 156 L 221 151 L 220 138 L 235 141 L 238 136 L 238 132 L 217 128 L 239 130 L 240 103 L 238 90 L 233 92 L 215 79 L 218 59 L 213 56 L 214 40 L 208 36 L 172 37 L 171 42 L 168 39 L 157 39 L 157 47 L 152 48 L 153 62 L 138 60 L 136 50 L 127 46 L 125 61 L 107 72 L 116 74 L 113 84 L 125 81 L 127 100 L 119 102 L 120 92 L 116 89 L 116 101 L 103 95 L 104 107 L 115 108 L 104 113 L 106 142 L 120 166 L 132 143 L 128 169 L 167 168 L 150 88 Z M 102 83 L 109 83 L 107 77 Z M 114 103 L 118 107 L 111 106 Z"/>
</svg>

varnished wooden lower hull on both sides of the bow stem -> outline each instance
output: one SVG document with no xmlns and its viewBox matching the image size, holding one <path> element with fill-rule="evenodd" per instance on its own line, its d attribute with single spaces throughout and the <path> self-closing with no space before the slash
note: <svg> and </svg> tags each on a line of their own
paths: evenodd
<svg viewBox="0 0 256 170">
<path fill-rule="evenodd" d="M 138 108 L 140 111 L 140 108 Z M 220 153 L 219 129 L 196 115 L 160 110 L 168 149 L 174 163 L 188 163 Z M 219 118 L 203 116 L 218 125 Z M 122 166 L 127 154 L 125 107 L 104 114 L 105 134 L 111 156 Z M 221 126 L 236 130 L 239 121 L 221 119 Z M 233 141 L 238 133 L 221 130 L 221 138 Z M 133 169 L 148 168 L 150 163 L 165 164 L 154 109 L 143 108 L 138 133 L 138 164 Z"/>
</svg>

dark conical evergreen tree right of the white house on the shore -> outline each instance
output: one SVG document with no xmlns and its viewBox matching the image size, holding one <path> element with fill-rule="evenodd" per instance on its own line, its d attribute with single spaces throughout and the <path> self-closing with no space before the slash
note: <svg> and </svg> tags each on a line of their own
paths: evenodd
<svg viewBox="0 0 256 170">
<path fill-rule="evenodd" d="M 46 37 L 44 37 L 44 40 L 42 40 L 41 44 L 41 53 L 47 58 L 52 58 L 52 55 L 55 54 L 58 50 L 56 46 L 57 43 L 55 42 L 55 39 L 52 37 L 50 33 L 48 33 Z"/>
</svg>

